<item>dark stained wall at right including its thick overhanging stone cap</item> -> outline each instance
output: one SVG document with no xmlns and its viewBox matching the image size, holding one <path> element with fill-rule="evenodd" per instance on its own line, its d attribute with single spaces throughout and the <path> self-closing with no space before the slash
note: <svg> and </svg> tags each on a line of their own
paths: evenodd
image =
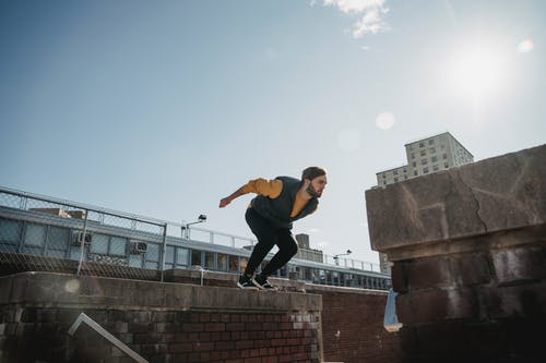
<svg viewBox="0 0 546 363">
<path fill-rule="evenodd" d="M 366 193 L 404 360 L 543 362 L 546 145 Z"/>
</svg>

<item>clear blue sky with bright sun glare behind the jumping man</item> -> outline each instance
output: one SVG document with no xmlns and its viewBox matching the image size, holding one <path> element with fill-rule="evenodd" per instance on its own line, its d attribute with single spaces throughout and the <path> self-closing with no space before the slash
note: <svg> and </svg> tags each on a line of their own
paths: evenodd
<svg viewBox="0 0 546 363">
<path fill-rule="evenodd" d="M 319 165 L 294 232 L 377 262 L 365 191 L 404 144 L 545 143 L 545 35 L 539 0 L 0 0 L 0 185 L 251 237 L 221 197 Z"/>
</svg>

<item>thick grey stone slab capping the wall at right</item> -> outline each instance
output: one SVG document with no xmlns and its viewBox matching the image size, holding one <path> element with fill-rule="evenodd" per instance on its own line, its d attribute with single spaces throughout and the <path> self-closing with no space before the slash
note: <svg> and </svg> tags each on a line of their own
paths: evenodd
<svg viewBox="0 0 546 363">
<path fill-rule="evenodd" d="M 546 145 L 366 192 L 373 250 L 546 223 Z"/>
</svg>

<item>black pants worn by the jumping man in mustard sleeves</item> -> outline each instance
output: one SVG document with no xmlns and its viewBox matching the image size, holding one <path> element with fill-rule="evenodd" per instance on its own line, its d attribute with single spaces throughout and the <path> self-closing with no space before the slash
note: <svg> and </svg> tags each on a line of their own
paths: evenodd
<svg viewBox="0 0 546 363">
<path fill-rule="evenodd" d="M 268 219 L 260 216 L 253 208 L 248 208 L 245 214 L 250 230 L 258 238 L 258 243 L 252 250 L 245 275 L 252 276 L 263 258 L 276 244 L 278 252 L 262 269 L 262 275 L 271 276 L 283 267 L 298 252 L 298 244 L 287 228 L 276 228 Z"/>
</svg>

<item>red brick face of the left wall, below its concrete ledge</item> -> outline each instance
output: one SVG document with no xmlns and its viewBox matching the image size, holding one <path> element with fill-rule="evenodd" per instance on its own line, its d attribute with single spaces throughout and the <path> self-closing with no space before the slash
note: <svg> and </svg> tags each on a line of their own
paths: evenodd
<svg viewBox="0 0 546 363">
<path fill-rule="evenodd" d="M 81 310 L 8 308 L 1 362 L 133 362 L 82 325 Z M 318 314 L 83 311 L 150 362 L 319 362 Z"/>
</svg>

